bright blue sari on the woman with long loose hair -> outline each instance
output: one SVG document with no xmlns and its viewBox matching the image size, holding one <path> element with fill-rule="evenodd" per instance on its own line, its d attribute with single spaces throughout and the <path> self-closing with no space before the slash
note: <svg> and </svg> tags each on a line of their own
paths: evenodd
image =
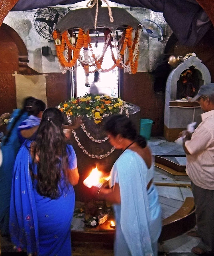
<svg viewBox="0 0 214 256">
<path fill-rule="evenodd" d="M 73 186 L 59 184 L 60 197 L 51 199 L 37 193 L 37 180 L 31 180 L 30 170 L 37 174 L 29 153 L 31 142 L 25 142 L 18 152 L 14 165 L 11 206 L 10 235 L 12 242 L 28 255 L 71 255 L 71 220 L 75 206 Z M 69 169 L 77 167 L 76 154 L 67 145 Z"/>
</svg>

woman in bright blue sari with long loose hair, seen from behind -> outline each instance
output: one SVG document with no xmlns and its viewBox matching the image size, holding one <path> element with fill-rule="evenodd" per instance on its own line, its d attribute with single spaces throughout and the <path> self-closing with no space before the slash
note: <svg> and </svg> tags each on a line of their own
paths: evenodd
<svg viewBox="0 0 214 256">
<path fill-rule="evenodd" d="M 61 111 L 47 108 L 35 141 L 26 140 L 14 165 L 10 235 L 28 255 L 71 255 L 73 185 L 79 173 L 62 124 Z"/>
</svg>

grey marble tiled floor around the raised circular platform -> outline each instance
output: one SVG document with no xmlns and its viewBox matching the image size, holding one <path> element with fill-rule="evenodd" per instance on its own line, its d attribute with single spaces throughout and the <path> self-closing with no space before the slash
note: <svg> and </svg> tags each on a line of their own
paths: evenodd
<svg viewBox="0 0 214 256">
<path fill-rule="evenodd" d="M 167 158 L 177 164 L 185 165 L 186 157 L 185 152 L 181 145 L 176 144 L 175 142 L 167 142 L 164 138 L 161 137 L 152 137 L 148 141 L 148 145 L 151 148 L 153 155 L 162 156 Z M 163 173 L 162 170 L 156 167 L 155 169 L 155 177 L 154 182 L 161 183 L 180 183 L 180 184 L 190 184 L 190 180 L 176 180 L 176 178 L 172 178 L 171 176 Z M 157 190 L 159 192 L 159 201 L 162 207 L 162 217 L 166 218 L 171 214 L 175 213 L 183 204 L 186 197 L 192 197 L 192 192 L 190 188 L 185 187 L 169 187 L 169 186 L 157 186 Z M 80 219 L 77 219 L 76 222 L 73 222 L 73 229 L 81 229 L 83 228 L 83 222 Z M 159 244 L 159 255 L 164 256 L 193 256 L 195 254 L 191 253 L 191 248 L 196 246 L 199 243 L 200 239 L 192 236 L 188 236 L 187 234 L 183 234 L 178 236 L 177 238 L 173 238 L 162 242 Z M 1 238 L 1 248 L 4 255 L 6 252 L 13 252 L 13 247 L 8 240 L 5 238 Z M 75 248 L 73 248 L 75 249 Z M 79 250 L 81 248 L 77 248 L 77 251 L 73 253 L 73 255 L 85 255 L 79 254 Z M 103 251 L 104 252 L 104 251 Z M 113 251 L 110 252 L 113 256 Z M 103 254 L 103 253 L 102 253 Z M 12 255 L 12 254 L 11 254 Z M 90 255 L 97 255 L 90 254 Z M 104 254 L 107 255 L 107 254 Z"/>
</svg>

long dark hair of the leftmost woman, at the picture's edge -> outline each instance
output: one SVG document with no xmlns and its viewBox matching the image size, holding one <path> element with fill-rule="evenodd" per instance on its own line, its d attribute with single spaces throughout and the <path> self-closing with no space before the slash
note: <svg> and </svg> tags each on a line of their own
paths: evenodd
<svg viewBox="0 0 214 256">
<path fill-rule="evenodd" d="M 25 112 L 28 112 L 31 110 L 32 108 L 32 105 L 33 103 L 35 102 L 36 98 L 34 97 L 27 97 L 25 100 L 24 100 L 24 104 L 23 104 L 23 108 L 20 110 L 18 116 L 16 116 L 14 118 L 14 120 L 12 120 L 12 125 L 10 127 L 10 130 L 8 130 L 8 133 L 3 141 L 3 145 L 6 145 L 9 138 L 10 138 L 10 135 L 12 133 L 12 130 L 14 129 L 16 123 L 18 122 L 18 120 L 20 120 L 21 116 L 25 113 Z"/>
</svg>

